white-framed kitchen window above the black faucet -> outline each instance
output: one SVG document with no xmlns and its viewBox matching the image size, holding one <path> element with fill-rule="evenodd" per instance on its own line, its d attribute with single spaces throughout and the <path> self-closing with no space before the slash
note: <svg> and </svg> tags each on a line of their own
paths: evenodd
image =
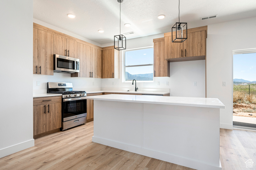
<svg viewBox="0 0 256 170">
<path fill-rule="evenodd" d="M 124 81 L 153 81 L 153 47 L 124 52 Z"/>
</svg>

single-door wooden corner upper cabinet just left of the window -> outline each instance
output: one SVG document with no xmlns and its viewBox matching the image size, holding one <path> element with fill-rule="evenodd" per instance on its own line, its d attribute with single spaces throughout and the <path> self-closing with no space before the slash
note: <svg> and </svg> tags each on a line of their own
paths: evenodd
<svg viewBox="0 0 256 170">
<path fill-rule="evenodd" d="M 102 78 L 119 78 L 119 51 L 114 46 L 102 48 Z"/>
</svg>

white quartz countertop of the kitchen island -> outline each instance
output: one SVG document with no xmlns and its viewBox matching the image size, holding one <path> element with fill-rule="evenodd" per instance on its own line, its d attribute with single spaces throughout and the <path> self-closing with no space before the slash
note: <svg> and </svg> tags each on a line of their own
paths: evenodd
<svg viewBox="0 0 256 170">
<path fill-rule="evenodd" d="M 143 96 L 143 95 L 125 95 L 125 94 L 107 94 L 99 96 L 82 97 L 84 99 L 107 100 L 118 102 L 135 102 L 151 104 L 167 104 L 179 106 L 211 107 L 225 108 L 225 105 L 217 98 L 191 98 L 191 97 L 173 97 L 173 96 Z"/>
</svg>

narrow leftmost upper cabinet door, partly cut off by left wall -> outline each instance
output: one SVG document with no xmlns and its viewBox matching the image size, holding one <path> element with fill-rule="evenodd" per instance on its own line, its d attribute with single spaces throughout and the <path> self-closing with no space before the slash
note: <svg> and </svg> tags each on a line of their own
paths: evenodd
<svg viewBox="0 0 256 170">
<path fill-rule="evenodd" d="M 38 74 L 38 29 L 33 28 L 33 74 Z"/>
</svg>

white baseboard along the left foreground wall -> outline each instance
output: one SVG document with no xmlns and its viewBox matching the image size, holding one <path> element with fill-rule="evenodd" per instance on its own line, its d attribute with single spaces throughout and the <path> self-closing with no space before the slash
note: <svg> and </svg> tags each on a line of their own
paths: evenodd
<svg viewBox="0 0 256 170">
<path fill-rule="evenodd" d="M 35 140 L 31 139 L 7 148 L 0 149 L 0 158 L 33 146 L 35 146 Z"/>
</svg>

